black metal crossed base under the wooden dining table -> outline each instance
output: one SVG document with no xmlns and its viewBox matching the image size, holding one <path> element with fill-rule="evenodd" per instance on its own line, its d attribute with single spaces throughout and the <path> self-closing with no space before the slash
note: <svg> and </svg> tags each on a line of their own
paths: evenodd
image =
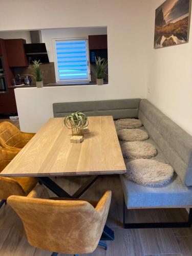
<svg viewBox="0 0 192 256">
<path fill-rule="evenodd" d="M 91 176 L 72 196 L 49 177 L 38 177 L 38 182 L 44 184 L 58 197 L 79 198 L 97 180 L 97 178 L 98 175 Z M 114 231 L 105 225 L 100 240 L 114 240 Z"/>
</svg>

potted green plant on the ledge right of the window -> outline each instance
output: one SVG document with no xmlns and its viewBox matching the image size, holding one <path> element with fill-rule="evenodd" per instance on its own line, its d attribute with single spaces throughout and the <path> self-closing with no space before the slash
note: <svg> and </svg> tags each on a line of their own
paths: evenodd
<svg viewBox="0 0 192 256">
<path fill-rule="evenodd" d="M 96 75 L 97 75 L 97 85 L 102 86 L 103 78 L 108 69 L 108 61 L 101 57 L 95 57 L 96 63 Z"/>
</svg>

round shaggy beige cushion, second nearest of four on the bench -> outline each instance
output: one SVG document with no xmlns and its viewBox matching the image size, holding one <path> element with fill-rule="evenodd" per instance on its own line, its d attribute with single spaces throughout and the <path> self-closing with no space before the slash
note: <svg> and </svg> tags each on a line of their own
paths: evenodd
<svg viewBox="0 0 192 256">
<path fill-rule="evenodd" d="M 123 157 L 129 159 L 152 158 L 157 155 L 155 146 L 143 141 L 131 141 L 121 144 Z"/>
</svg>

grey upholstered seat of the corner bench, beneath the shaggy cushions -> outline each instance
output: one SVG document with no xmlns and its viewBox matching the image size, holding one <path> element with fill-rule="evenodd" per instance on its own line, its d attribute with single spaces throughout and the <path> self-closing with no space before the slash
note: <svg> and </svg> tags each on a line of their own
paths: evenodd
<svg viewBox="0 0 192 256">
<path fill-rule="evenodd" d="M 146 131 L 144 126 L 140 129 Z M 152 159 L 168 163 L 153 139 L 148 139 L 146 142 L 152 143 L 157 148 L 158 154 Z M 127 180 L 124 175 L 120 175 L 120 179 L 127 208 L 183 207 L 192 205 L 192 187 L 184 185 L 176 173 L 168 184 L 160 187 L 138 185 L 133 181 Z"/>
</svg>

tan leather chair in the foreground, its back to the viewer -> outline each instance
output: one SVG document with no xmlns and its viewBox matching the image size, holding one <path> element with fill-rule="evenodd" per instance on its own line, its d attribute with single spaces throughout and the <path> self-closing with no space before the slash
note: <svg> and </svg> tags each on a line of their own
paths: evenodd
<svg viewBox="0 0 192 256">
<path fill-rule="evenodd" d="M 111 191 L 91 204 L 49 199 L 47 190 L 38 185 L 27 197 L 11 196 L 7 201 L 22 219 L 28 242 L 34 247 L 54 251 L 52 255 L 91 253 L 98 244 L 106 247 L 99 240 L 108 217 Z"/>
</svg>

